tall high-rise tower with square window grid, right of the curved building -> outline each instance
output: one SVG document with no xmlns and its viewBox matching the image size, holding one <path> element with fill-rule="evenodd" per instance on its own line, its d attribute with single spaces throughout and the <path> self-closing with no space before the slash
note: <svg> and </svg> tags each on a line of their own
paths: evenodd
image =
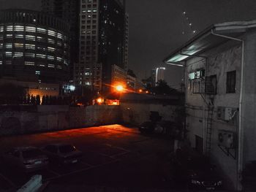
<svg viewBox="0 0 256 192">
<path fill-rule="evenodd" d="M 127 68 L 128 20 L 118 0 L 81 0 L 80 55 L 75 84 L 108 91 L 113 65 Z M 127 39 L 128 41 L 128 39 Z"/>
</svg>

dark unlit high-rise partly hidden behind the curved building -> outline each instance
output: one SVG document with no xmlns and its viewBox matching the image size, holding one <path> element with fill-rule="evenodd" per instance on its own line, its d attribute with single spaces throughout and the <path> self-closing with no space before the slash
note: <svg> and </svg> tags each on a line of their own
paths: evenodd
<svg viewBox="0 0 256 192">
<path fill-rule="evenodd" d="M 69 78 L 73 79 L 73 68 L 79 58 L 79 13 L 80 0 L 42 0 L 42 11 L 61 18 L 69 23 L 70 69 Z"/>
</svg>

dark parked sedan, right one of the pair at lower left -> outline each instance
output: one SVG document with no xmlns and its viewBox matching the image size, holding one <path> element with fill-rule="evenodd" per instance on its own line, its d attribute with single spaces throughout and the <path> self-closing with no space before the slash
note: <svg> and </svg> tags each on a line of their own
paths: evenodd
<svg viewBox="0 0 256 192">
<path fill-rule="evenodd" d="M 42 148 L 53 164 L 75 164 L 78 163 L 83 153 L 77 150 L 74 145 L 58 143 L 47 145 Z"/>
</svg>

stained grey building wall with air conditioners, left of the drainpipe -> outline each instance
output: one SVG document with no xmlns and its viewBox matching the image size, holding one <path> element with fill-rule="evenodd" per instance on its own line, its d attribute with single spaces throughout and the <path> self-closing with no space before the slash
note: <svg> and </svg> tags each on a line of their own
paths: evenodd
<svg viewBox="0 0 256 192">
<path fill-rule="evenodd" d="M 241 46 L 229 44 L 217 47 L 206 53 L 208 59 L 192 58 L 187 61 L 186 75 L 198 69 L 205 69 L 206 75 L 217 75 L 217 95 L 214 98 L 214 117 L 211 134 L 211 158 L 219 165 L 222 172 L 227 176 L 230 186 L 236 188 L 237 181 L 237 160 L 231 155 L 226 155 L 218 146 L 218 132 L 220 129 L 236 132 L 238 128 L 237 116 L 233 122 L 217 119 L 217 107 L 238 108 L 240 77 L 241 77 Z M 236 70 L 236 93 L 226 93 L 227 72 Z M 196 80 L 186 80 L 186 105 L 187 105 L 187 128 L 188 137 L 192 147 L 195 147 L 196 136 L 203 138 L 206 146 L 206 122 L 207 104 L 210 99 L 206 94 L 192 93 L 192 83 Z M 204 101 L 204 99 L 206 101 Z M 238 113 L 237 113 L 238 114 Z M 205 150 L 205 149 L 204 149 Z M 230 150 L 235 155 L 235 150 Z"/>
</svg>

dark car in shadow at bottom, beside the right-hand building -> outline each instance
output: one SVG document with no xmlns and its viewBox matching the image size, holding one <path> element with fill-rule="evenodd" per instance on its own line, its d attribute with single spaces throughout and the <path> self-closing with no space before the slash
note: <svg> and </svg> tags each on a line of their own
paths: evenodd
<svg viewBox="0 0 256 192">
<path fill-rule="evenodd" d="M 203 155 L 177 154 L 173 161 L 174 179 L 189 188 L 214 190 L 222 187 L 222 178 L 216 172 L 216 166 Z"/>
</svg>

